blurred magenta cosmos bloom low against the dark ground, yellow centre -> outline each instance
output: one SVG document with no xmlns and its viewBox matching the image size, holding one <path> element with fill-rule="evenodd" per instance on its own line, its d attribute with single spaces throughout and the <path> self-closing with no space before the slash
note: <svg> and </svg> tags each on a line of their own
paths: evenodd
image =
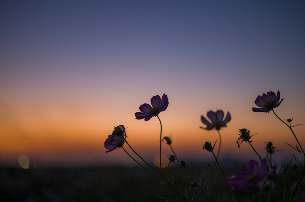
<svg viewBox="0 0 305 202">
<path fill-rule="evenodd" d="M 268 171 L 266 158 L 260 162 L 250 160 L 247 163 L 247 172 L 236 173 L 236 177 L 229 179 L 228 184 L 235 190 L 245 190 L 247 187 L 257 185 L 258 182 L 264 182 Z"/>
</svg>

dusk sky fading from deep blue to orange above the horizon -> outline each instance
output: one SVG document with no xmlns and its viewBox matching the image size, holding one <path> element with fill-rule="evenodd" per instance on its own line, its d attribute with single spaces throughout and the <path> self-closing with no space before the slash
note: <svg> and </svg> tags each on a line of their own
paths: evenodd
<svg viewBox="0 0 305 202">
<path fill-rule="evenodd" d="M 291 159 L 291 131 L 271 113 L 255 113 L 269 91 L 284 98 L 275 113 L 305 124 L 303 1 L 0 1 L 0 164 L 135 165 L 106 152 L 113 128 L 145 159 L 159 155 L 160 123 L 136 120 L 152 96 L 168 96 L 159 114 L 181 158 L 212 161 L 199 127 L 210 110 L 231 114 L 220 130 L 224 161 L 265 157 L 264 141 Z M 304 125 L 293 127 L 301 145 Z M 127 145 L 126 151 L 135 156 Z M 163 154 L 171 154 L 162 145 Z M 233 160 L 232 160 L 233 159 Z"/>
</svg>

